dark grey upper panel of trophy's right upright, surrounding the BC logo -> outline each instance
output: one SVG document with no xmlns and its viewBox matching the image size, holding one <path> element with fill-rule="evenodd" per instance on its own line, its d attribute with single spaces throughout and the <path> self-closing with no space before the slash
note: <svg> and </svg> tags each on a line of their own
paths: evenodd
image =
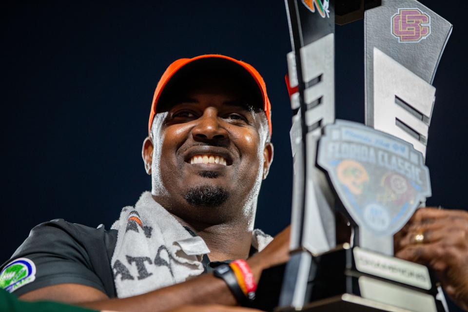
<svg viewBox="0 0 468 312">
<path fill-rule="evenodd" d="M 417 9 L 422 17 L 429 17 L 428 22 L 408 20 L 409 23 L 400 29 L 412 31 L 411 29 L 423 30 L 428 34 L 420 33 L 420 39 L 405 39 L 394 34 L 394 18 L 401 13 L 400 9 Z M 413 28 L 411 28 L 413 27 Z M 415 27 L 415 28 L 414 28 Z M 427 83 L 432 83 L 435 71 L 442 57 L 452 31 L 452 25 L 428 7 L 416 0 L 382 0 L 382 5 L 365 13 L 365 53 L 366 53 L 366 124 L 374 126 L 373 105 L 374 99 L 374 47 L 396 60 Z M 399 33 L 397 33 L 399 34 Z M 406 41 L 405 41 L 406 40 Z"/>
</svg>

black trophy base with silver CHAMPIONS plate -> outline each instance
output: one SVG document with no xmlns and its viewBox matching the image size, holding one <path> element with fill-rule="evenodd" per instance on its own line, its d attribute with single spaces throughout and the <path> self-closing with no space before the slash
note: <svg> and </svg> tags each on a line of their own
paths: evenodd
<svg viewBox="0 0 468 312">
<path fill-rule="evenodd" d="M 445 306 L 427 267 L 349 245 L 318 256 L 298 251 L 286 265 L 265 270 L 252 305 L 278 312 L 444 312 Z"/>
</svg>

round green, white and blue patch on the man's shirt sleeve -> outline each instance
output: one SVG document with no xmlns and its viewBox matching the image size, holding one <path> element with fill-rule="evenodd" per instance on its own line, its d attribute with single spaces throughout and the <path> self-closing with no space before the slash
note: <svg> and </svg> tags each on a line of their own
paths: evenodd
<svg viewBox="0 0 468 312">
<path fill-rule="evenodd" d="M 36 265 L 27 258 L 18 258 L 8 263 L 0 273 L 0 287 L 14 292 L 36 279 Z"/>
</svg>

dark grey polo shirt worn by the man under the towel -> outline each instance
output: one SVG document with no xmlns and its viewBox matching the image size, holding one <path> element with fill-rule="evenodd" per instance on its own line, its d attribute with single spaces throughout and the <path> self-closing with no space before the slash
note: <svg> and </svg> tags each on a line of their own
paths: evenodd
<svg viewBox="0 0 468 312">
<path fill-rule="evenodd" d="M 55 219 L 33 228 L 11 259 L 2 264 L 0 272 L 11 261 L 27 258 L 36 266 L 35 280 L 17 288 L 13 292 L 17 296 L 46 286 L 76 283 L 94 287 L 113 298 L 117 293 L 111 259 L 116 243 L 117 230 Z M 250 254 L 254 253 L 256 249 L 252 247 Z M 206 254 L 202 260 L 205 272 L 227 262 L 230 261 L 210 262 Z"/>
</svg>

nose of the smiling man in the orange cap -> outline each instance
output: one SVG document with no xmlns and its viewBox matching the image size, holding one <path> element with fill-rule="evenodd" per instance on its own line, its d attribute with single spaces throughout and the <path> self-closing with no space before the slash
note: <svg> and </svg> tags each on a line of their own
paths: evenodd
<svg viewBox="0 0 468 312">
<path fill-rule="evenodd" d="M 228 137 L 228 132 L 219 124 L 217 110 L 207 108 L 198 118 L 197 124 L 192 130 L 195 140 L 223 140 Z"/>
</svg>

